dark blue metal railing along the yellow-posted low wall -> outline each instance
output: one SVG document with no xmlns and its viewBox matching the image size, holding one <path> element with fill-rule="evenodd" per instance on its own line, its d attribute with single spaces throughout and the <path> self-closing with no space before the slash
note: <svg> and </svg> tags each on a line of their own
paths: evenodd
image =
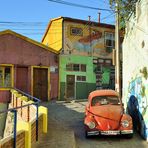
<svg viewBox="0 0 148 148">
<path fill-rule="evenodd" d="M 39 117 L 39 103 L 41 102 L 40 99 L 33 97 L 17 88 L 12 88 L 12 90 L 16 90 L 18 93 L 23 94 L 24 96 L 26 96 L 28 98 L 28 101 L 34 101 L 32 103 L 29 104 L 25 104 L 21 106 L 16 106 L 14 108 L 10 108 L 7 110 L 3 110 L 0 111 L 0 114 L 2 113 L 8 113 L 8 112 L 12 112 L 14 114 L 14 129 L 13 129 L 13 138 L 14 138 L 14 142 L 13 142 L 13 147 L 16 148 L 16 136 L 17 136 L 17 111 L 18 109 L 22 109 L 25 107 L 30 107 L 31 105 L 35 105 L 36 106 L 36 141 L 38 141 L 38 117 Z M 11 91 L 11 90 L 10 90 Z M 12 94 L 11 94 L 12 95 Z M 14 99 L 14 98 L 12 98 Z M 16 97 L 16 104 L 17 104 L 17 97 Z M 11 100 L 12 101 L 12 100 Z M 14 101 L 14 100 L 13 100 Z M 29 110 L 28 110 L 29 111 Z M 29 121 L 29 120 L 28 120 Z"/>
</svg>

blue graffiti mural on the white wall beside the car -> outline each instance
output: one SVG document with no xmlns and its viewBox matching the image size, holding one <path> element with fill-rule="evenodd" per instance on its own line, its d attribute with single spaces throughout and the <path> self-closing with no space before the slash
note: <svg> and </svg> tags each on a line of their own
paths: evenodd
<svg viewBox="0 0 148 148">
<path fill-rule="evenodd" d="M 148 69 L 144 67 L 131 80 L 128 88 L 127 111 L 133 118 L 134 127 L 148 137 Z"/>
</svg>

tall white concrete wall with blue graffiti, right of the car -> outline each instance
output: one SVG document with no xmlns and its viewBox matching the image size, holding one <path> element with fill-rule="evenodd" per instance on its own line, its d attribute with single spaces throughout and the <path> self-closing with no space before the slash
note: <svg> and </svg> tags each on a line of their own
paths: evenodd
<svg viewBox="0 0 148 148">
<path fill-rule="evenodd" d="M 126 27 L 123 42 L 123 101 L 138 109 L 141 135 L 148 140 L 148 1 L 136 5 Z M 132 96 L 137 105 L 129 105 Z M 134 106 L 135 105 L 135 106 Z M 138 122 L 138 121 L 136 121 Z M 134 123 L 136 124 L 136 123 Z"/>
</svg>

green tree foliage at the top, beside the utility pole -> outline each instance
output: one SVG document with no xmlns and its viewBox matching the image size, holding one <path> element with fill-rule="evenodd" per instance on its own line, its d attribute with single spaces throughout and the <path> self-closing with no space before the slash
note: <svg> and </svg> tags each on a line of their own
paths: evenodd
<svg viewBox="0 0 148 148">
<path fill-rule="evenodd" d="M 132 13 L 135 13 L 138 0 L 109 0 L 110 6 L 115 10 L 115 2 L 118 2 L 120 28 L 125 28 L 125 23 Z"/>
</svg>

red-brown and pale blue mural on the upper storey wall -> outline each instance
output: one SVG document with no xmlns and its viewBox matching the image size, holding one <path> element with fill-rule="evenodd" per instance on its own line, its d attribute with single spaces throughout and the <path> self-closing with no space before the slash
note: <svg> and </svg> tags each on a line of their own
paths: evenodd
<svg viewBox="0 0 148 148">
<path fill-rule="evenodd" d="M 93 29 L 90 35 L 79 37 L 76 40 L 76 37 L 65 39 L 65 45 L 69 51 L 79 53 L 87 53 L 88 55 L 100 55 L 100 57 L 109 57 L 111 58 L 111 52 L 106 50 L 104 47 L 104 35 L 102 32 Z"/>
</svg>

